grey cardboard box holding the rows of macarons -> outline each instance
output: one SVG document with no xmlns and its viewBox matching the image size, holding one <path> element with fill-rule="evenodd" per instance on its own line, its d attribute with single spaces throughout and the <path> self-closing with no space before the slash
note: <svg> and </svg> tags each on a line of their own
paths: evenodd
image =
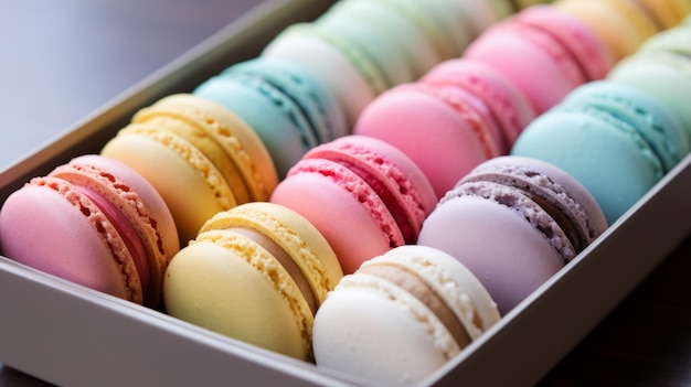
<svg viewBox="0 0 691 387">
<path fill-rule="evenodd" d="M 134 112 L 257 55 L 328 1 L 273 1 L 152 74 L 66 136 L 0 172 L 0 202 L 31 176 L 97 153 Z M 425 385 L 532 385 L 691 230 L 691 158 Z M 673 222 L 676 227 L 660 227 Z M 57 385 L 358 385 L 348 375 L 215 334 L 0 257 L 0 362 Z"/>
</svg>

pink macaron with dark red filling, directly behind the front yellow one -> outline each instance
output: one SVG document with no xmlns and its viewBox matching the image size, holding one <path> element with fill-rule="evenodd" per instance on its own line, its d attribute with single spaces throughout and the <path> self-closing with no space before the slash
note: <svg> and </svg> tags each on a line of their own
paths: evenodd
<svg viewBox="0 0 691 387">
<path fill-rule="evenodd" d="M 346 136 L 305 154 L 270 202 L 305 216 L 329 241 L 344 273 L 417 240 L 437 198 L 415 163 L 393 146 Z"/>
</svg>

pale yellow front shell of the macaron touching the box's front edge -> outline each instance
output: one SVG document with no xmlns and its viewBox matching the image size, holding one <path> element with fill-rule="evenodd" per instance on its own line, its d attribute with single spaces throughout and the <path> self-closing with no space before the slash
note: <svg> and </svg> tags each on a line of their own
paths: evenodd
<svg viewBox="0 0 691 387">
<path fill-rule="evenodd" d="M 211 241 L 183 248 L 170 262 L 163 282 L 167 311 L 211 331 L 304 359 L 309 353 L 307 333 L 296 323 L 286 294 L 277 287 L 295 300 L 299 300 L 299 290 L 284 281 L 285 276 L 275 282 L 255 266 L 264 262 L 277 268 L 267 254 L 231 250 Z M 304 308 L 308 309 L 307 304 Z M 311 325 L 311 321 L 307 323 Z"/>
</svg>

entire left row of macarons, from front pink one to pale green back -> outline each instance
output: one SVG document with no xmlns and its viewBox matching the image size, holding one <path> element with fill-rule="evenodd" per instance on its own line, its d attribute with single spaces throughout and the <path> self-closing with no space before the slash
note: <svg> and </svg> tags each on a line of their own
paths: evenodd
<svg viewBox="0 0 691 387">
<path fill-rule="evenodd" d="M 298 51 L 318 50 L 320 66 L 332 69 L 339 63 L 352 73 L 359 67 L 353 57 L 369 58 L 365 41 L 389 40 L 405 52 L 403 62 L 416 62 L 417 50 L 436 47 L 434 39 L 454 34 L 439 33 L 439 24 L 430 20 L 451 15 L 463 23 L 467 36 L 453 54 L 443 56 L 435 49 L 425 63 L 405 64 L 415 73 L 397 79 L 412 80 L 442 57 L 463 52 L 467 41 L 515 12 L 514 7 L 511 1 L 437 1 L 429 8 L 395 0 L 341 1 L 313 23 L 288 28 L 276 41 L 294 36 L 294 28 L 315 30 L 306 39 L 319 42 L 318 49 L 305 43 Z M 325 20 L 334 26 L 321 25 Z M 349 20 L 359 25 L 353 31 L 370 31 L 366 39 L 351 31 L 336 43 L 336 25 Z M 419 47 L 405 43 L 411 41 Z M 350 56 L 353 52 L 359 54 Z M 161 308 L 168 264 L 209 218 L 242 203 L 268 201 L 307 150 L 349 135 L 348 108 L 325 77 L 323 69 L 267 54 L 231 66 L 194 93 L 140 109 L 100 157 L 76 158 L 8 197 L 0 212 L 2 254 Z M 25 216 L 28 212 L 36 215 Z"/>
</svg>

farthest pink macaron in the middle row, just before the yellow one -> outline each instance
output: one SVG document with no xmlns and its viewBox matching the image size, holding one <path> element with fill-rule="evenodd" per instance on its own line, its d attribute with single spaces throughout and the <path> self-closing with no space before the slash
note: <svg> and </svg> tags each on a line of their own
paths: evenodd
<svg viewBox="0 0 691 387">
<path fill-rule="evenodd" d="M 593 30 L 553 6 L 534 6 L 496 23 L 464 57 L 501 72 L 529 98 L 538 114 L 573 88 L 603 78 L 612 54 Z"/>
</svg>

